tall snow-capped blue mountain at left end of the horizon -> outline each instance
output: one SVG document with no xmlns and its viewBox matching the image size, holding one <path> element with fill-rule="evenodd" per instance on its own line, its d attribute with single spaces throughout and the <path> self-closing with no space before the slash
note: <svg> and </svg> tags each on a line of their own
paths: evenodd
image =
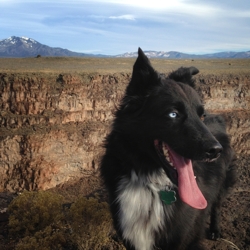
<svg viewBox="0 0 250 250">
<path fill-rule="evenodd" d="M 101 57 L 77 53 L 62 48 L 52 48 L 34 39 L 12 36 L 0 41 L 0 57 L 36 57 L 36 56 Z"/>
</svg>

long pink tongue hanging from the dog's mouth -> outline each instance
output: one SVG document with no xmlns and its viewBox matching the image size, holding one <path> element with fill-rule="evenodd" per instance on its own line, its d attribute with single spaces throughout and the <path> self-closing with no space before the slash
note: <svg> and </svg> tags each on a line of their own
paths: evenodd
<svg viewBox="0 0 250 250">
<path fill-rule="evenodd" d="M 181 200 L 197 209 L 207 207 L 207 201 L 194 177 L 192 162 L 168 148 L 171 160 L 178 172 L 178 192 Z"/>
</svg>

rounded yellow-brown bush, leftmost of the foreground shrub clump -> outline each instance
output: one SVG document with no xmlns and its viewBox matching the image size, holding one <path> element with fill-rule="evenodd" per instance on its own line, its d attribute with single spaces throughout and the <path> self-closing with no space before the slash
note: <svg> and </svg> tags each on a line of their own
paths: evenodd
<svg viewBox="0 0 250 250">
<path fill-rule="evenodd" d="M 60 222 L 63 218 L 62 200 L 62 196 L 51 192 L 23 192 L 8 207 L 10 235 L 33 235 Z"/>
</svg>

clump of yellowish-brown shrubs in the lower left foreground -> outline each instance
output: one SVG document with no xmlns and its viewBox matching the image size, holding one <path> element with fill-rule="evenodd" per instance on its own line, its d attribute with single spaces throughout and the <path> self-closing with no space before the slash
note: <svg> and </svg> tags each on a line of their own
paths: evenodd
<svg viewBox="0 0 250 250">
<path fill-rule="evenodd" d="M 95 198 L 78 198 L 70 207 L 58 194 L 26 191 L 8 211 L 9 234 L 19 240 L 16 250 L 124 249 L 111 237 L 108 204 Z"/>
</svg>

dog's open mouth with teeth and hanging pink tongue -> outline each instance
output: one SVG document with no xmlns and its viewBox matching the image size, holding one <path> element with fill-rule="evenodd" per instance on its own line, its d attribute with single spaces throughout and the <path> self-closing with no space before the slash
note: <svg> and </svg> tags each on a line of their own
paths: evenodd
<svg viewBox="0 0 250 250">
<path fill-rule="evenodd" d="M 165 157 L 166 174 L 173 183 L 177 182 L 180 199 L 193 208 L 206 208 L 207 201 L 197 185 L 192 161 L 177 154 L 165 142 L 155 140 L 154 144 L 160 157 Z"/>
</svg>

